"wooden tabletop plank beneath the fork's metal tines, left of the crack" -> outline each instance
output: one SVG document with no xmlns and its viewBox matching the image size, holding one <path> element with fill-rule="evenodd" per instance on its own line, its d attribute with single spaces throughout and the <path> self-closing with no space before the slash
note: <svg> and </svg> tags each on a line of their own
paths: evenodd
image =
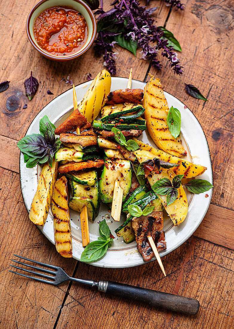
<svg viewBox="0 0 234 329">
<path fill-rule="evenodd" d="M 72 275 L 76 261 L 64 259 L 55 246 L 30 221 L 25 209 L 19 175 L 0 168 L 1 248 L 0 248 L 0 327 L 53 328 L 68 283 L 56 288 L 8 272 L 13 254 L 62 266 Z"/>
</svg>

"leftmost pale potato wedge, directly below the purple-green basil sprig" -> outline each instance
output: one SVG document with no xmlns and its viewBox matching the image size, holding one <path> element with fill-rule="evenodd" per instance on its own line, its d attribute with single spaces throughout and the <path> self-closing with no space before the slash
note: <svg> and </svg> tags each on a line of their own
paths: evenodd
<svg viewBox="0 0 234 329">
<path fill-rule="evenodd" d="M 44 164 L 33 198 L 29 218 L 36 225 L 44 226 L 51 203 L 51 197 L 58 177 L 58 162 L 53 160 L 52 167 Z"/>
</svg>

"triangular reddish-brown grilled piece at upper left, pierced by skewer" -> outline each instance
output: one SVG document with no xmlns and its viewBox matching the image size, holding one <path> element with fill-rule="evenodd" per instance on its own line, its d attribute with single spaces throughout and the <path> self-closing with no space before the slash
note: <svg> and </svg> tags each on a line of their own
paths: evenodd
<svg viewBox="0 0 234 329">
<path fill-rule="evenodd" d="M 76 109 L 58 128 L 55 129 L 55 134 L 60 135 L 61 133 L 67 133 L 69 131 L 75 131 L 77 127 L 82 127 L 87 124 L 87 119 L 81 112 Z M 90 125 L 91 126 L 91 125 Z"/>
</svg>

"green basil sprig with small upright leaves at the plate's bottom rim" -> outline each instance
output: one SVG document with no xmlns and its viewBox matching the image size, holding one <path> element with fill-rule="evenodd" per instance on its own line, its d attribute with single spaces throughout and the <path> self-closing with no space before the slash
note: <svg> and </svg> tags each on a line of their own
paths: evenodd
<svg viewBox="0 0 234 329">
<path fill-rule="evenodd" d="M 111 246 L 113 238 L 111 238 L 111 232 L 105 219 L 99 224 L 99 233 L 101 237 L 97 241 L 90 242 L 84 248 L 81 254 L 81 262 L 89 263 L 99 260 L 105 255 L 108 247 Z"/>
</svg>

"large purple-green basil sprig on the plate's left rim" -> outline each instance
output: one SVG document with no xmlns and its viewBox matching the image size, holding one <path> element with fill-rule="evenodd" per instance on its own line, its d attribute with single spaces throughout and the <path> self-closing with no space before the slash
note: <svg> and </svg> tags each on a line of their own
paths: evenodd
<svg viewBox="0 0 234 329">
<path fill-rule="evenodd" d="M 24 162 L 27 168 L 33 168 L 36 164 L 44 164 L 48 161 L 52 166 L 53 156 L 61 144 L 59 138 L 55 138 L 55 125 L 50 122 L 47 115 L 40 120 L 40 135 L 32 134 L 23 137 L 17 146 L 24 153 Z"/>
</svg>

